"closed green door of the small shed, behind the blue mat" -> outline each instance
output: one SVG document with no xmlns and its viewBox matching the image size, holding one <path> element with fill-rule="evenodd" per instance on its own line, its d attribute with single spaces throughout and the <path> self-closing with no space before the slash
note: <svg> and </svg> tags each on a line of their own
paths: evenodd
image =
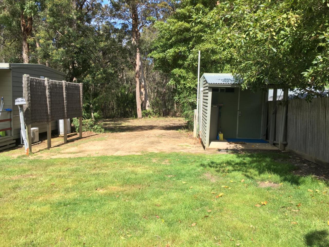
<svg viewBox="0 0 329 247">
<path fill-rule="evenodd" d="M 240 90 L 238 138 L 261 139 L 263 92 Z"/>
</svg>

